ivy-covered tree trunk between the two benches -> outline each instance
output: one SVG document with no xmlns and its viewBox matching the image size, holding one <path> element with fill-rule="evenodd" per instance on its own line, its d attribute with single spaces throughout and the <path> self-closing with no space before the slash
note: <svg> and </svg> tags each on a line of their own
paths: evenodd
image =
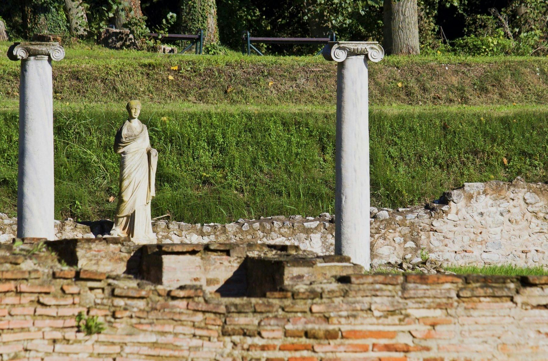
<svg viewBox="0 0 548 361">
<path fill-rule="evenodd" d="M 204 44 L 219 43 L 215 0 L 180 0 L 177 22 L 183 34 L 204 31 Z"/>
</svg>

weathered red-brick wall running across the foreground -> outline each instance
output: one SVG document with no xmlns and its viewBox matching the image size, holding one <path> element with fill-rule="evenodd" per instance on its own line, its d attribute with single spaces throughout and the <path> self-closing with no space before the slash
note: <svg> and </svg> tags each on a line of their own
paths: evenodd
<svg viewBox="0 0 548 361">
<path fill-rule="evenodd" d="M 172 257 L 169 252 L 162 257 Z M 323 259 L 322 266 L 294 258 L 286 266 L 300 267 L 306 281 L 286 272 L 278 290 L 225 298 L 196 285 L 170 289 L 114 271 L 62 268 L 49 252 L 4 253 L 0 354 L 41 361 L 437 361 L 545 359 L 548 353 L 546 276 L 312 279 L 310 270 L 340 260 Z M 106 330 L 79 332 L 79 312 L 98 316 Z"/>
</svg>

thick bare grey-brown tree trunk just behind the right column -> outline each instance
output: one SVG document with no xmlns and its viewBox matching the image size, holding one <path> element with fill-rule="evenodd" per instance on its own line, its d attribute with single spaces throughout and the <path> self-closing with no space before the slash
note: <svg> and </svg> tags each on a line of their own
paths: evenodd
<svg viewBox="0 0 548 361">
<path fill-rule="evenodd" d="M 416 0 L 384 0 L 383 12 L 386 54 L 419 54 Z"/>
</svg>

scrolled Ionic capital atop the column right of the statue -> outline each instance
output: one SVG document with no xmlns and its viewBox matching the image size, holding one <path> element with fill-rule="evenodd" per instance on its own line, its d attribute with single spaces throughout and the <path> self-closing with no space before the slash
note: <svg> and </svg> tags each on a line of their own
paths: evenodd
<svg viewBox="0 0 548 361">
<path fill-rule="evenodd" d="M 336 62 L 344 61 L 349 55 L 367 55 L 370 61 L 379 62 L 384 57 L 384 49 L 378 42 L 328 42 L 322 55 Z"/>
</svg>

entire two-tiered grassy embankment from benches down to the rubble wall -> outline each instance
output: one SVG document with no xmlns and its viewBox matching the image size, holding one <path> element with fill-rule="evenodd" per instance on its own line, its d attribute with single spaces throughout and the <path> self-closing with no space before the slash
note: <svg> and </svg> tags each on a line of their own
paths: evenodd
<svg viewBox="0 0 548 361">
<path fill-rule="evenodd" d="M 129 98 L 144 101 L 140 118 L 160 155 L 153 216 L 333 212 L 333 62 L 66 53 L 54 63 L 56 217 L 112 217 L 111 147 Z M 18 67 L 0 57 L 0 211 L 10 214 Z M 370 75 L 373 205 L 420 203 L 463 182 L 546 179 L 548 59 L 387 57 Z"/>
</svg>

